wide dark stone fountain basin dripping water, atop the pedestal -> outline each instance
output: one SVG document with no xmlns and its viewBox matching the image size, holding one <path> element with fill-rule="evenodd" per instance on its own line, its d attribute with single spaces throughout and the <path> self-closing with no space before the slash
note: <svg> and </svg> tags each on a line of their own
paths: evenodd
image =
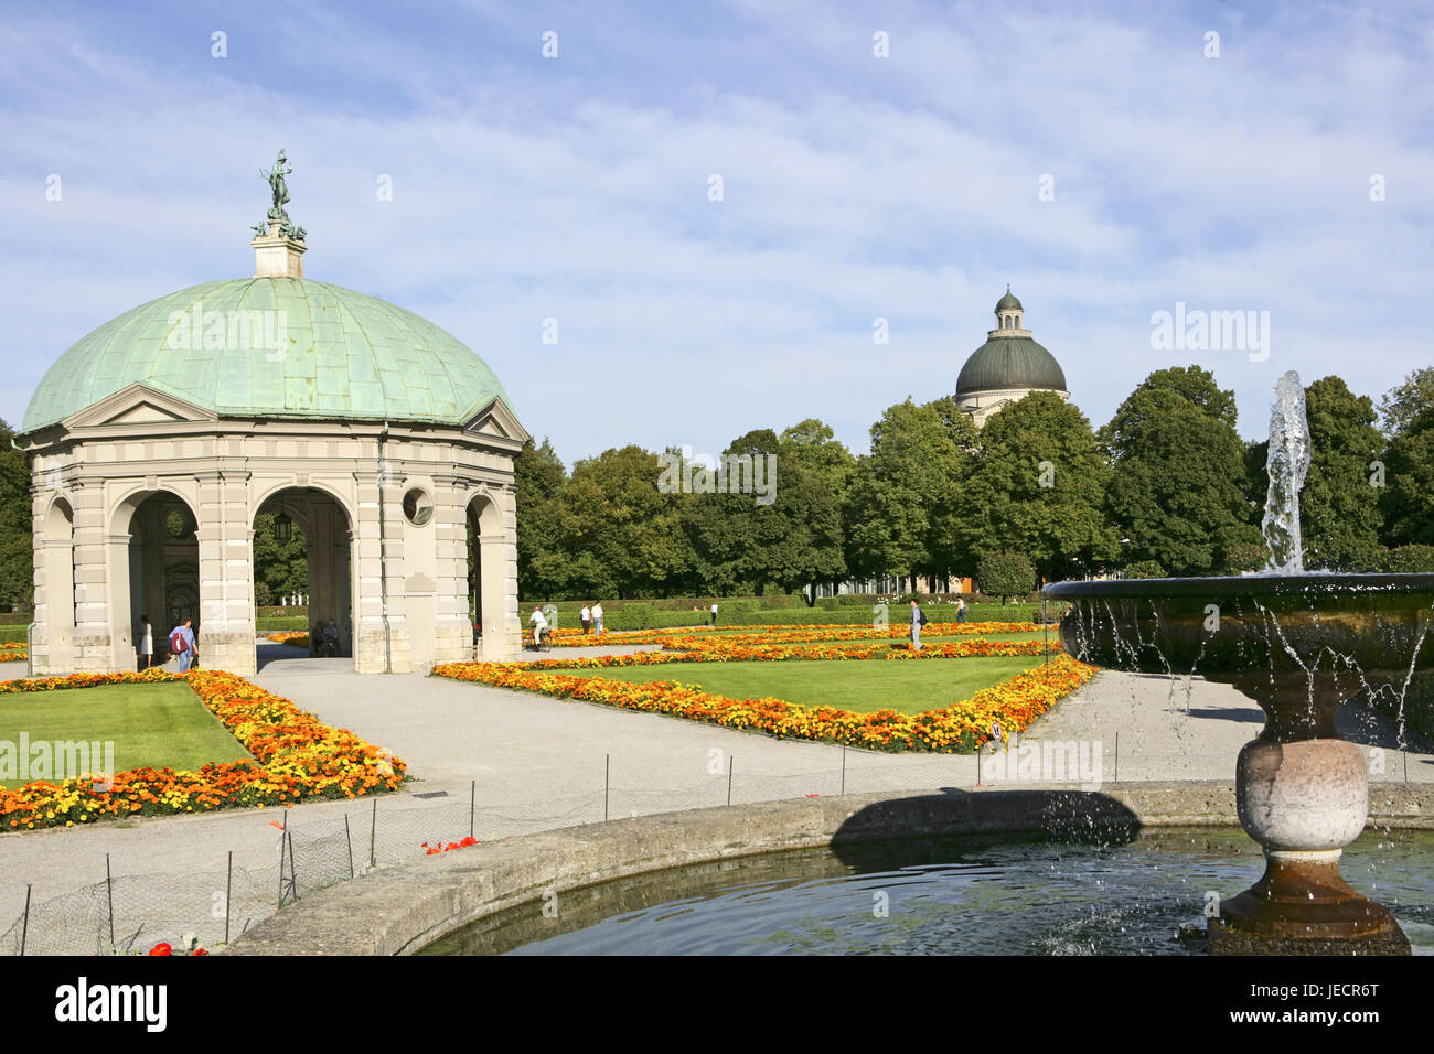
<svg viewBox="0 0 1434 1054">
<path fill-rule="evenodd" d="M 1240 683 L 1305 671 L 1358 690 L 1434 668 L 1434 575 L 1229 575 L 1057 582 L 1061 644 L 1086 663 Z"/>
</svg>

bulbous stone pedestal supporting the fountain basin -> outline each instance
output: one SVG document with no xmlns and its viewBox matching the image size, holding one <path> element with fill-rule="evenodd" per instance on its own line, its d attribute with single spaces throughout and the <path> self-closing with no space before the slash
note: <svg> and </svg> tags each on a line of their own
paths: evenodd
<svg viewBox="0 0 1434 1054">
<path fill-rule="evenodd" d="M 1344 848 L 1369 816 L 1365 754 L 1339 739 L 1344 691 L 1321 674 L 1236 678 L 1259 703 L 1265 730 L 1240 750 L 1240 826 L 1265 849 L 1265 875 L 1220 902 L 1210 919 L 1216 955 L 1408 955 L 1384 905 L 1339 875 Z"/>
</svg>

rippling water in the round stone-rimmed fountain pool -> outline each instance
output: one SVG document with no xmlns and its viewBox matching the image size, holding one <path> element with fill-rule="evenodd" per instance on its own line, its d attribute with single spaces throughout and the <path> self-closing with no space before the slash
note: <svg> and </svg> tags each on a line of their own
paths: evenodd
<svg viewBox="0 0 1434 1054">
<path fill-rule="evenodd" d="M 1263 870 L 1240 830 L 794 850 L 619 879 L 476 922 L 427 955 L 1203 955 L 1182 924 Z M 1365 833 L 1344 876 L 1434 954 L 1434 833 Z"/>
</svg>

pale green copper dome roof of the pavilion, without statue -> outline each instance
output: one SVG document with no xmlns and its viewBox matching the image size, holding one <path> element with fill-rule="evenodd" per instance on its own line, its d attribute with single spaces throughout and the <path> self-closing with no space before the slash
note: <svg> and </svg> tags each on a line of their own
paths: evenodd
<svg viewBox="0 0 1434 1054">
<path fill-rule="evenodd" d="M 44 374 L 22 430 L 135 383 L 224 417 L 462 424 L 495 397 L 512 410 L 482 359 L 412 311 L 305 278 L 238 278 L 100 326 Z"/>
</svg>

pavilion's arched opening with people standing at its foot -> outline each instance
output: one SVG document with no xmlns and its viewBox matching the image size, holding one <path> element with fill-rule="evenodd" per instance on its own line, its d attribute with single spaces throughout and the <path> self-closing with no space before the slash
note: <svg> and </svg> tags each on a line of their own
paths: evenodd
<svg viewBox="0 0 1434 1054">
<path fill-rule="evenodd" d="M 202 661 L 199 523 L 194 509 L 169 490 L 145 490 L 119 503 L 112 525 L 110 541 L 122 546 L 110 555 L 113 668 L 143 665 L 136 652 L 142 618 L 153 627 L 156 665 L 168 657 L 169 631 L 186 618 L 194 622 Z"/>
</svg>

